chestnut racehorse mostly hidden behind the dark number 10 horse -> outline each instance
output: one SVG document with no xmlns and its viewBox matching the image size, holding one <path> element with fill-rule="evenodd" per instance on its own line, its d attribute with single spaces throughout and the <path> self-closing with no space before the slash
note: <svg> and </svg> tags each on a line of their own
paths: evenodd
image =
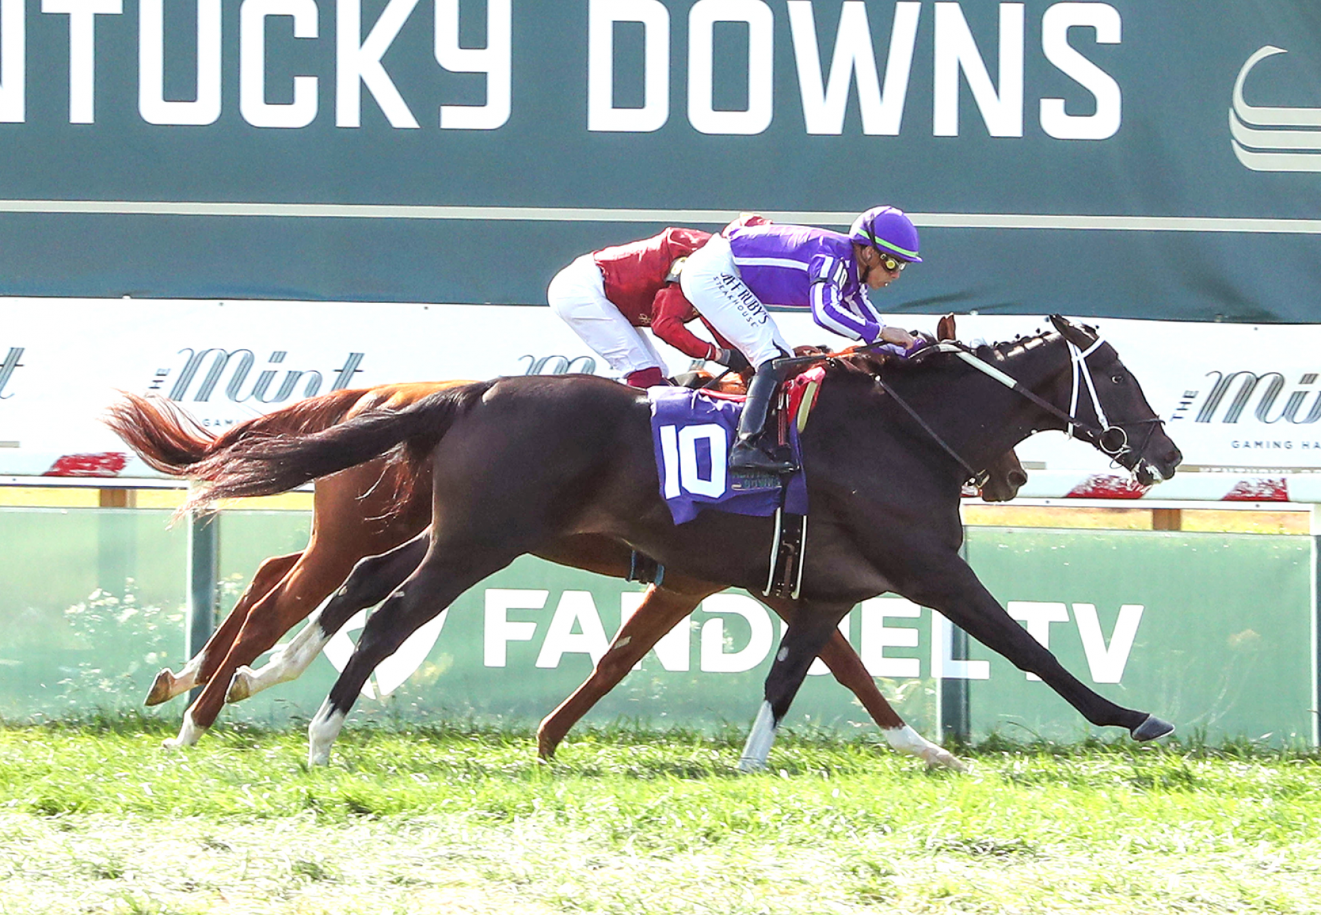
<svg viewBox="0 0 1321 915">
<path fill-rule="evenodd" d="M 952 334 L 952 327 L 947 333 Z M 164 473 L 185 475 L 193 465 L 223 453 L 246 437 L 318 432 L 363 411 L 399 409 L 457 384 L 464 383 L 386 384 L 369 390 L 337 391 L 239 424 L 221 436 L 197 426 L 168 404 L 125 395 L 112 408 L 108 424 L 151 466 Z M 987 500 L 1012 499 L 1025 481 L 1022 466 L 1013 452 L 1009 452 L 988 467 L 983 495 Z M 321 603 L 343 581 L 355 561 L 404 543 L 429 522 L 429 515 L 431 473 L 425 466 L 378 458 L 317 481 L 308 547 L 299 553 L 262 562 L 238 605 L 211 635 L 206 647 L 178 675 L 169 669 L 157 675 L 147 697 L 148 705 L 164 702 L 194 685 L 205 685 L 201 696 L 185 713 L 178 737 L 166 741 L 166 746 L 196 743 L 215 721 L 226 698 L 238 701 L 296 677 L 316 655 L 303 650 L 305 638 L 279 652 L 260 671 L 252 671 L 247 665 Z M 542 551 L 542 555 L 565 565 L 614 577 L 625 577 L 631 560 L 627 547 L 598 536 L 569 537 Z M 420 556 L 419 552 L 419 560 Z M 386 593 L 411 568 L 400 573 Z M 568 729 L 662 635 L 688 615 L 703 598 L 721 588 L 688 581 L 679 574 L 671 574 L 664 588 L 650 588 L 642 605 L 616 636 L 612 652 L 601 659 L 592 676 L 542 724 L 540 753 L 552 754 Z M 361 589 L 354 589 L 354 593 L 361 593 Z M 781 615 L 789 613 L 785 607 L 774 609 Z M 908 728 L 877 691 L 843 635 L 832 636 L 823 646 L 822 659 L 836 680 L 857 696 L 892 746 L 919 755 L 929 763 L 958 764 L 948 753 Z"/>
</svg>

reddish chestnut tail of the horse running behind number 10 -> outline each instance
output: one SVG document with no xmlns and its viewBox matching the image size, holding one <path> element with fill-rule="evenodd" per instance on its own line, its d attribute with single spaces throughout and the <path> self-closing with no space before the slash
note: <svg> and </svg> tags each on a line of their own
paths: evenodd
<svg viewBox="0 0 1321 915">
<path fill-rule="evenodd" d="M 365 390 L 346 390 L 309 397 L 239 423 L 217 436 L 169 400 L 123 392 L 123 397 L 107 411 L 104 421 L 149 467 L 170 477 L 186 477 L 194 465 L 247 436 L 305 434 L 326 429 L 343 420 L 365 393 Z"/>
</svg>

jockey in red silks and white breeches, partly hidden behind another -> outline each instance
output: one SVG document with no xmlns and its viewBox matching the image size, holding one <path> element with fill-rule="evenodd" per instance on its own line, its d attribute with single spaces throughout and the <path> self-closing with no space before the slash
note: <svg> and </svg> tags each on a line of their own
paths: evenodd
<svg viewBox="0 0 1321 915">
<path fill-rule="evenodd" d="M 762 222 L 761 217 L 746 215 L 725 231 Z M 746 364 L 742 354 L 697 314 L 678 283 L 684 259 L 709 239 L 709 232 L 671 227 L 641 242 L 593 251 L 556 273 L 546 298 L 551 310 L 633 387 L 668 384 L 664 359 L 641 327 L 651 327 L 657 337 L 694 359 L 741 368 Z M 697 318 L 715 343 L 684 326 Z"/>
</svg>

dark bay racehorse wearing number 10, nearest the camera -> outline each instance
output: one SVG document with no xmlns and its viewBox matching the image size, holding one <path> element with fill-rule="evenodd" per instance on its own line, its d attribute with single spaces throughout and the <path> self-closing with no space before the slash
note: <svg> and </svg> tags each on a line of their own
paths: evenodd
<svg viewBox="0 0 1321 915">
<path fill-rule="evenodd" d="M 894 592 L 929 606 L 1094 725 L 1135 739 L 1172 725 L 1083 685 L 1016 623 L 959 556 L 960 483 L 1028 434 L 1067 429 L 1151 485 L 1181 456 L 1115 350 L 1052 317 L 1054 333 L 935 353 L 923 364 L 834 360 L 803 436 L 811 535 L 802 597 L 766 680 L 744 764 L 765 763 L 812 659 L 859 601 Z M 1073 404 L 1077 412 L 1067 413 Z M 660 500 L 645 396 L 592 376 L 507 378 L 450 388 L 325 432 L 236 442 L 190 475 L 210 499 L 267 495 L 403 445 L 433 474 L 432 543 L 369 621 L 309 726 L 329 758 L 362 684 L 424 621 L 523 553 L 577 535 L 621 540 L 668 569 L 754 590 L 766 580 L 771 519 L 704 512 L 678 528 Z M 535 457 L 532 457 L 535 456 Z"/>
</svg>

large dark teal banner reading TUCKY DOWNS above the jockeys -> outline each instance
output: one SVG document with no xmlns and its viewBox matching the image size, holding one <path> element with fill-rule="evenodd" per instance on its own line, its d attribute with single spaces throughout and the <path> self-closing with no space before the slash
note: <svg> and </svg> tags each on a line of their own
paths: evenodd
<svg viewBox="0 0 1321 915">
<path fill-rule="evenodd" d="M 0 0 L 0 293 L 540 304 L 890 202 L 885 310 L 1314 322 L 1318 49 L 1308 0 Z"/>
</svg>

